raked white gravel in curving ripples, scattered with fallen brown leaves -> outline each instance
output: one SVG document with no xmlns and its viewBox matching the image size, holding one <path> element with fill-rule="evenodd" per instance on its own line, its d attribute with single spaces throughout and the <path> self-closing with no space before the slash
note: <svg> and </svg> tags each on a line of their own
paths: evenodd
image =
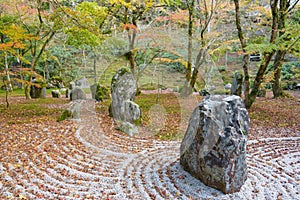
<svg viewBox="0 0 300 200">
<path fill-rule="evenodd" d="M 104 133 L 93 101 L 78 123 L 76 134 L 49 134 L 18 163 L 0 162 L 0 199 L 300 199 L 300 137 L 248 141 L 248 179 L 225 195 L 181 168 L 180 142 Z"/>
</svg>

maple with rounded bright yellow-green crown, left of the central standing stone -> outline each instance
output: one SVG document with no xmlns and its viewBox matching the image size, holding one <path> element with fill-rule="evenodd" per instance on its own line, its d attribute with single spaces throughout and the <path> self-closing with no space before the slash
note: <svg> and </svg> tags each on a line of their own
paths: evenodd
<svg viewBox="0 0 300 200">
<path fill-rule="evenodd" d="M 74 7 L 62 6 L 59 11 L 66 34 L 66 45 L 82 49 L 84 64 L 86 52 L 92 51 L 94 57 L 94 80 L 97 77 L 96 50 L 109 34 L 107 27 L 107 9 L 96 2 L 82 2 Z"/>
</svg>

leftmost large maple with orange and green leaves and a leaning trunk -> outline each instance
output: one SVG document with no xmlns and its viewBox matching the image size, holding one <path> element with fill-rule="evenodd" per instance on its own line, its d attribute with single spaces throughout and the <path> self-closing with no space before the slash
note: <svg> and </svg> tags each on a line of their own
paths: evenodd
<svg viewBox="0 0 300 200">
<path fill-rule="evenodd" d="M 15 24 L 22 27 L 24 34 L 30 35 L 30 38 L 23 38 L 24 48 L 19 48 L 19 55 L 26 57 L 29 61 L 25 64 L 30 65 L 30 70 L 25 70 L 28 79 L 24 80 L 25 96 L 30 99 L 30 85 L 32 77 L 36 76 L 35 68 L 44 53 L 47 45 L 53 39 L 58 31 L 59 23 L 53 17 L 55 5 L 52 1 L 9 1 L 6 5 L 6 13 L 17 16 Z M 9 11 L 7 11 L 9 10 Z M 18 65 L 22 68 L 24 60 L 18 60 Z"/>
</svg>

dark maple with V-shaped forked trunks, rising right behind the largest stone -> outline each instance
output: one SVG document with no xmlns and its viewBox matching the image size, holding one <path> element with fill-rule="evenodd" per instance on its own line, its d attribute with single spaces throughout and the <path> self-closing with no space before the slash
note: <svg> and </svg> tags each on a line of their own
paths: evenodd
<svg viewBox="0 0 300 200">
<path fill-rule="evenodd" d="M 241 3 L 238 0 L 234 1 L 235 13 L 236 13 L 235 15 L 236 27 L 238 30 L 238 36 L 244 53 L 244 58 L 243 58 L 243 70 L 245 75 L 245 92 L 244 92 L 245 100 L 244 101 L 247 108 L 250 108 L 254 103 L 258 95 L 260 86 L 263 82 L 264 76 L 267 72 L 267 68 L 271 62 L 272 57 L 275 54 L 276 56 L 275 56 L 274 66 L 275 66 L 275 74 L 276 74 L 275 77 L 277 76 L 275 80 L 277 80 L 277 83 L 275 83 L 274 85 L 277 85 L 277 89 L 278 89 L 278 91 L 275 91 L 275 93 L 276 92 L 280 93 L 279 91 L 280 89 L 278 88 L 278 81 L 279 81 L 278 77 L 280 77 L 279 73 L 280 73 L 281 65 L 283 63 L 284 55 L 294 45 L 297 45 L 300 39 L 299 35 L 295 34 L 297 28 L 295 29 L 295 27 L 293 27 L 290 30 L 285 28 L 288 11 L 292 11 L 298 2 L 299 1 L 287 1 L 287 0 L 272 1 L 270 4 L 270 13 L 271 13 L 272 22 L 270 24 L 270 30 L 268 31 L 269 40 L 265 41 L 264 43 L 249 43 L 245 38 L 245 31 L 243 30 L 241 24 L 241 15 L 240 15 Z M 285 31 L 287 30 L 291 32 L 288 31 L 289 33 L 285 33 Z M 259 69 L 255 76 L 253 86 L 251 87 L 250 90 L 248 58 L 250 53 L 257 52 L 258 50 L 262 53 L 262 61 L 259 65 Z"/>
</svg>

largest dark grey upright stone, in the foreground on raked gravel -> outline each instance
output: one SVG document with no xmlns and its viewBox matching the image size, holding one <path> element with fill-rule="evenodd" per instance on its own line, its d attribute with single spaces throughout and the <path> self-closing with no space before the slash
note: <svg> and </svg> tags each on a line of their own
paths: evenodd
<svg viewBox="0 0 300 200">
<path fill-rule="evenodd" d="M 208 96 L 191 115 L 180 147 L 183 168 L 224 193 L 240 190 L 247 179 L 249 117 L 238 96 Z"/>
</svg>

